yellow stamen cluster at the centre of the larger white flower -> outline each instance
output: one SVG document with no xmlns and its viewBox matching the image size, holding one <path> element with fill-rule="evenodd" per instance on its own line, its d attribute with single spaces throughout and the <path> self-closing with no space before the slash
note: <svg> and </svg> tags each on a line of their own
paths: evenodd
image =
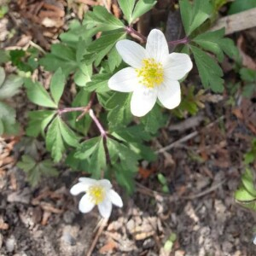
<svg viewBox="0 0 256 256">
<path fill-rule="evenodd" d="M 143 67 L 137 68 L 136 72 L 139 83 L 148 88 L 154 88 L 164 80 L 163 65 L 160 62 L 156 62 L 154 58 L 144 59 Z"/>
</svg>

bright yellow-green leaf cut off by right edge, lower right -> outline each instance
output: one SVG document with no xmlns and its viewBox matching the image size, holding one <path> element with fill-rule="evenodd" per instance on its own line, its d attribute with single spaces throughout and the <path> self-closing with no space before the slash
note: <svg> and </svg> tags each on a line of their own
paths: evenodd
<svg viewBox="0 0 256 256">
<path fill-rule="evenodd" d="M 256 211 L 256 189 L 253 184 L 253 172 L 249 168 L 241 176 L 241 185 L 236 190 L 235 198 L 242 207 Z"/>
</svg>

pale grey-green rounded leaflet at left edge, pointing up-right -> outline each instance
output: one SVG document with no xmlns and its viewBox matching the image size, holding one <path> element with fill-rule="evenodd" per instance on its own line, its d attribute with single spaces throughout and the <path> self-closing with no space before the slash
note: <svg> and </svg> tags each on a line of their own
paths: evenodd
<svg viewBox="0 0 256 256">
<path fill-rule="evenodd" d="M 1 76 L 1 74 L 0 74 Z M 1 81 L 0 81 L 1 82 Z M 23 79 L 16 75 L 9 75 L 4 82 L 0 83 L 0 100 L 5 100 L 15 96 L 19 92 L 20 86 L 23 84 Z"/>
</svg>

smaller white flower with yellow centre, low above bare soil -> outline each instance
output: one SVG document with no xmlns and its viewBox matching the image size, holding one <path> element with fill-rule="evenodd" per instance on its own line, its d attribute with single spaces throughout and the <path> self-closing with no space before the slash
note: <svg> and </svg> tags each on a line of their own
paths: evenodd
<svg viewBox="0 0 256 256">
<path fill-rule="evenodd" d="M 108 179 L 96 180 L 90 177 L 80 177 L 79 183 L 70 189 L 72 195 L 79 195 L 85 192 L 79 201 L 79 211 L 90 212 L 93 207 L 98 206 L 103 218 L 109 218 L 112 211 L 112 204 L 123 207 L 121 197 L 112 189 Z"/>
</svg>

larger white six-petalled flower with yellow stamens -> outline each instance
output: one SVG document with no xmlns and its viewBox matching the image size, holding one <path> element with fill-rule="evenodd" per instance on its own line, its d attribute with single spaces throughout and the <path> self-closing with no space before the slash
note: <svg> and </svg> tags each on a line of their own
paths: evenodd
<svg viewBox="0 0 256 256">
<path fill-rule="evenodd" d="M 116 49 L 131 67 L 115 73 L 108 80 L 108 87 L 120 92 L 133 92 L 131 113 L 141 117 L 148 113 L 157 98 L 168 109 L 176 108 L 181 102 L 178 80 L 193 67 L 189 55 L 169 54 L 166 38 L 158 29 L 153 29 L 144 49 L 131 40 L 120 40 Z"/>
</svg>

